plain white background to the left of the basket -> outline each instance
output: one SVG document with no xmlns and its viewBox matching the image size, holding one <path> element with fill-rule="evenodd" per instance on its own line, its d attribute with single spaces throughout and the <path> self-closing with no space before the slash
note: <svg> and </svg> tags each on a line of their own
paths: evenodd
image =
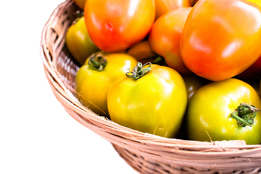
<svg viewBox="0 0 261 174">
<path fill-rule="evenodd" d="M 47 82 L 41 34 L 63 2 L 0 5 L 0 173 L 137 173 L 64 110 Z"/>
</svg>

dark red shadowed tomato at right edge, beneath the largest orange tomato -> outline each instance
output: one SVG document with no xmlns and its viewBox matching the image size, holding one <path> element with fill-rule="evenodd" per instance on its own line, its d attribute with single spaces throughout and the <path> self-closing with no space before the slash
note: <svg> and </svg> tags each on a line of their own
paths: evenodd
<svg viewBox="0 0 261 174">
<path fill-rule="evenodd" d="M 261 79 L 261 56 L 259 59 L 251 65 L 248 69 L 237 75 L 241 79 Z"/>
</svg>

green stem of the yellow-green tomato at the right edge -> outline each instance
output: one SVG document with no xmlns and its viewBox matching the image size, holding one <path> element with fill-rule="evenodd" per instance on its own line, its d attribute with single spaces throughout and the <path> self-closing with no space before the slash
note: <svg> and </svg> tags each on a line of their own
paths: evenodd
<svg viewBox="0 0 261 174">
<path fill-rule="evenodd" d="M 231 113 L 231 117 L 237 120 L 239 126 L 246 127 L 248 125 L 251 127 L 251 124 L 254 124 L 254 118 L 257 111 L 261 110 L 253 105 L 240 103 L 235 111 Z"/>
</svg>

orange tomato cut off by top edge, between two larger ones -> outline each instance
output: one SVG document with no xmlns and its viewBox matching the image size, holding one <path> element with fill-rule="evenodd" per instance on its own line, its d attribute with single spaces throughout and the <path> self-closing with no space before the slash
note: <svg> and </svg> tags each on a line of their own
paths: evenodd
<svg viewBox="0 0 261 174">
<path fill-rule="evenodd" d="M 155 1 L 155 7 L 156 7 L 156 16 L 155 20 L 174 9 L 178 9 L 180 7 L 190 7 L 191 2 L 190 0 L 154 0 Z"/>
</svg>

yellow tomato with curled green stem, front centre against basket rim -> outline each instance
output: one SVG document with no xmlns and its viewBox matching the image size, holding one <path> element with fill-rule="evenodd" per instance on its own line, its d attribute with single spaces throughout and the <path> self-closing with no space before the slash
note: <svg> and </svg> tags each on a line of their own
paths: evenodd
<svg viewBox="0 0 261 174">
<path fill-rule="evenodd" d="M 134 130 L 173 138 L 186 111 L 185 82 L 169 67 L 152 65 L 141 69 L 138 63 L 133 71 L 113 82 L 107 99 L 110 118 Z"/>
</svg>

